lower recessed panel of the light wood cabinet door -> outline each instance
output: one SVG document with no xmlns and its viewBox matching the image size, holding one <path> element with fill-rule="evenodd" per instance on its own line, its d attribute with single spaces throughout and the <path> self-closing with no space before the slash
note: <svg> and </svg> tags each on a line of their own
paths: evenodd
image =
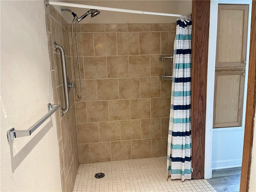
<svg viewBox="0 0 256 192">
<path fill-rule="evenodd" d="M 214 128 L 241 126 L 244 71 L 215 72 Z"/>
</svg>

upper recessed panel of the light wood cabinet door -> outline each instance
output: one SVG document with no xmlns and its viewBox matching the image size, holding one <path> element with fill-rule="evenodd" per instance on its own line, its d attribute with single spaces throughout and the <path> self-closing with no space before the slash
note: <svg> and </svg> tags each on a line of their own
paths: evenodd
<svg viewBox="0 0 256 192">
<path fill-rule="evenodd" d="M 247 16 L 246 5 L 219 5 L 216 66 L 232 66 L 244 62 Z"/>
</svg>

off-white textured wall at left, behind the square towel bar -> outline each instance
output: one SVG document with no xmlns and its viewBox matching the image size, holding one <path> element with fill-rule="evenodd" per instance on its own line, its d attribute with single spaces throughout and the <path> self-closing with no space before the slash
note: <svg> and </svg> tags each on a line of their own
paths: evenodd
<svg viewBox="0 0 256 192">
<path fill-rule="evenodd" d="M 31 136 L 8 142 L 6 132 L 26 130 L 53 102 L 43 1 L 0 1 L 0 191 L 61 191 L 55 115 Z"/>
</svg>

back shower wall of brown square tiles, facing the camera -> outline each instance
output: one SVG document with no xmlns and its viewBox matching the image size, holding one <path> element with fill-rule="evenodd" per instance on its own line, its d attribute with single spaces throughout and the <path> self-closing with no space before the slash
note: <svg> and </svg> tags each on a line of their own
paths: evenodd
<svg viewBox="0 0 256 192">
<path fill-rule="evenodd" d="M 159 57 L 173 54 L 175 29 L 176 24 L 78 24 L 81 164 L 166 156 L 171 81 L 160 80 Z M 166 66 L 170 70 L 170 62 Z"/>
</svg>

